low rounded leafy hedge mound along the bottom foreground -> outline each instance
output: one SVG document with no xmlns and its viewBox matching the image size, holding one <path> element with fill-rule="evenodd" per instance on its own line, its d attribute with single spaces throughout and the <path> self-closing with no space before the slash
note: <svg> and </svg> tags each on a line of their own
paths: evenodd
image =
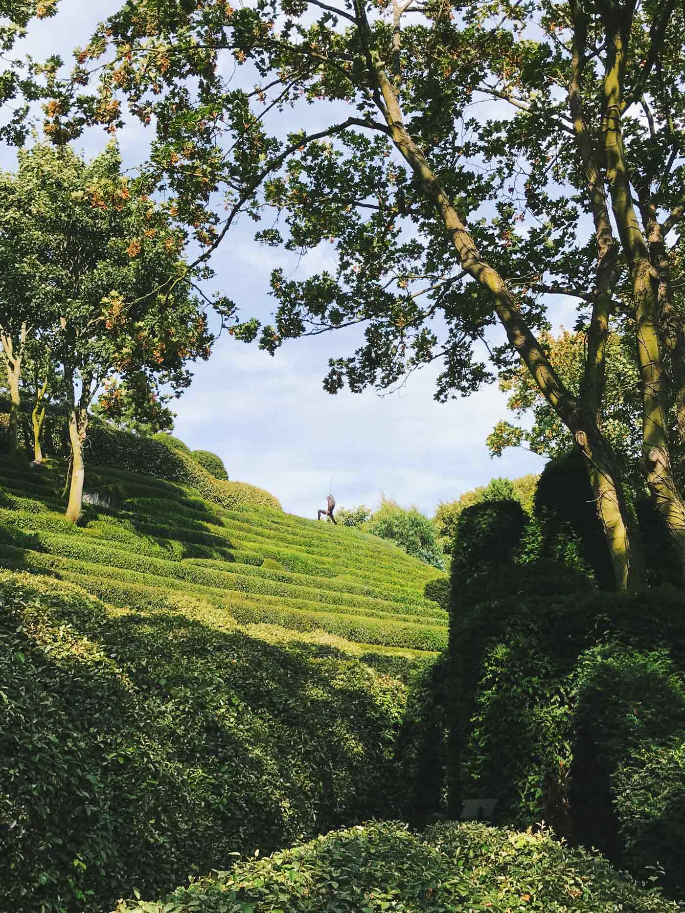
<svg viewBox="0 0 685 913">
<path fill-rule="evenodd" d="M 240 863 L 116 913 L 660 913 L 678 904 L 547 834 L 367 824 Z"/>
</svg>

